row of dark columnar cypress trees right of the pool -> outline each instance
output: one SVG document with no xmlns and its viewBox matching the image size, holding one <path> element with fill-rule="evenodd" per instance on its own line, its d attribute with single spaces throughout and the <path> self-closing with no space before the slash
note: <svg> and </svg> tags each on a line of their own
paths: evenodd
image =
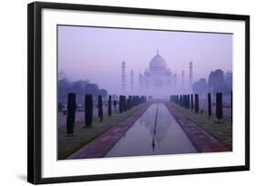
<svg viewBox="0 0 256 186">
<path fill-rule="evenodd" d="M 170 95 L 169 100 L 171 103 L 175 103 L 185 109 L 190 109 L 195 113 L 201 113 L 202 109 L 200 110 L 200 98 L 199 94 L 183 94 L 183 95 Z M 211 117 L 211 93 L 208 93 L 208 116 Z M 231 109 L 231 118 L 232 118 L 232 93 L 230 93 L 230 109 Z M 223 119 L 223 104 L 222 104 L 222 93 L 216 93 L 216 117 L 218 118 L 219 122 Z"/>
</svg>

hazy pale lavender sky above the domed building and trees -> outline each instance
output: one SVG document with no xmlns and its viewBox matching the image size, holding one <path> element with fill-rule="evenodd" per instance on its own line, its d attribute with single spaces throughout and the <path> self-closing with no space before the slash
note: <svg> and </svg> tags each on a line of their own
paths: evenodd
<svg viewBox="0 0 256 186">
<path fill-rule="evenodd" d="M 90 80 L 109 91 L 120 87 L 123 60 L 127 76 L 132 69 L 138 84 L 138 73 L 148 68 L 157 49 L 171 72 L 178 73 L 178 81 L 182 70 L 188 78 L 190 60 L 194 81 L 215 69 L 232 71 L 232 34 L 58 27 L 58 71 L 72 81 Z"/>
</svg>

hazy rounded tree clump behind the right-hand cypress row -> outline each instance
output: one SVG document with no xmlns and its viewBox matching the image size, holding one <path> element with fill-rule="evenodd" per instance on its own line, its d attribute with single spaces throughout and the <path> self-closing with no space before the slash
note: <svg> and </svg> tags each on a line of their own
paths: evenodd
<svg viewBox="0 0 256 186">
<path fill-rule="evenodd" d="M 207 95 L 207 93 L 223 93 L 227 95 L 232 91 L 232 73 L 225 73 L 218 69 L 209 74 L 208 81 L 201 78 L 192 84 L 193 93 Z"/>
</svg>

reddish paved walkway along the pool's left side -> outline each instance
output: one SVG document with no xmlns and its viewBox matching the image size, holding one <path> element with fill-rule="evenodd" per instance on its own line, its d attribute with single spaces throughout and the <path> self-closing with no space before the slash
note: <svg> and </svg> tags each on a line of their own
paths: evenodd
<svg viewBox="0 0 256 186">
<path fill-rule="evenodd" d="M 146 112 L 151 103 L 145 105 L 136 113 L 133 113 L 127 119 L 119 122 L 107 132 L 101 134 L 97 139 L 89 142 L 87 145 L 74 152 L 67 159 L 86 159 L 102 158 L 119 141 L 119 139 L 128 131 L 128 129 Z"/>
</svg>

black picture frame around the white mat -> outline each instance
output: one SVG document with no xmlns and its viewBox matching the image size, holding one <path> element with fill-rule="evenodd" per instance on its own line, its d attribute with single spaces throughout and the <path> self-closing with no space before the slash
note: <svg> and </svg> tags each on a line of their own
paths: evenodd
<svg viewBox="0 0 256 186">
<path fill-rule="evenodd" d="M 245 22 L 245 164 L 240 166 L 210 167 L 200 169 L 144 171 L 99 175 L 81 175 L 42 178 L 42 88 L 41 88 L 41 32 L 42 10 L 61 9 L 93 12 L 125 13 L 137 15 L 165 15 L 209 19 L 239 20 Z M 199 12 L 170 11 L 100 5 L 75 5 L 35 2 L 27 6 L 27 181 L 34 184 L 70 181 L 100 181 L 140 177 L 169 176 L 180 174 L 210 173 L 250 170 L 250 15 L 226 15 Z"/>
</svg>

